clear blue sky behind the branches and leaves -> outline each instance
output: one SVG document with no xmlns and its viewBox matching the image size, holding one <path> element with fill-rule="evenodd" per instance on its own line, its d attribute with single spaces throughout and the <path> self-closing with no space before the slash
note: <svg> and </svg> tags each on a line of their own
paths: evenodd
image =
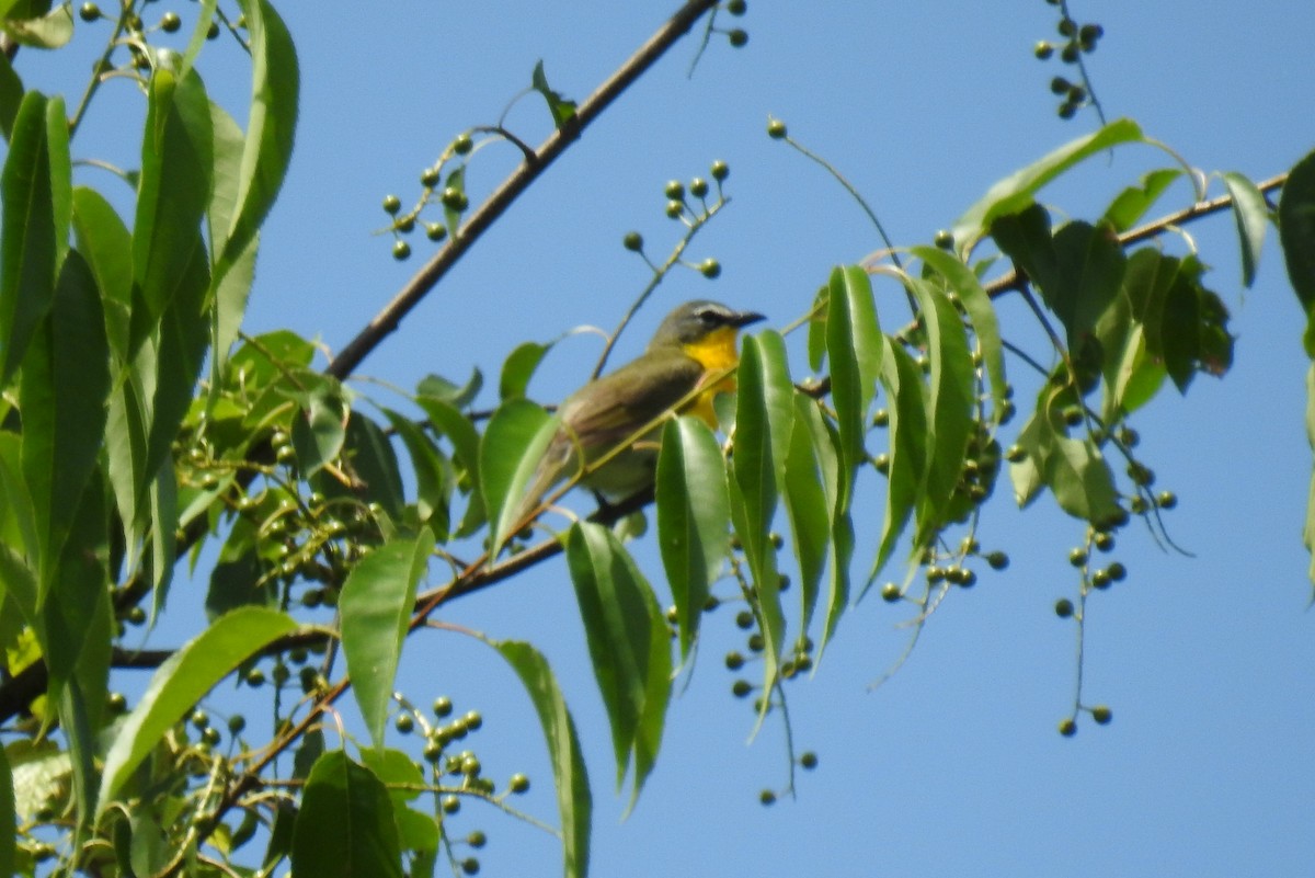
<svg viewBox="0 0 1315 878">
<path fill-rule="evenodd" d="M 380 200 L 413 198 L 421 168 L 460 130 L 494 122 L 538 59 L 556 89 L 583 99 L 675 3 L 279 7 L 301 57 L 301 124 L 246 329 L 287 326 L 338 350 L 426 255 L 414 242 L 410 262 L 391 259 L 389 239 L 371 235 L 385 221 Z M 460 380 L 475 365 L 492 377 L 522 340 L 614 325 L 647 280 L 621 247 L 623 233 L 636 229 L 651 252 L 665 252 L 677 234 L 663 216 L 663 184 L 706 176 L 713 159 L 731 167 L 732 204 L 690 256 L 715 256 L 723 273 L 669 277 L 618 356 L 635 354 L 686 298 L 751 308 L 775 326 L 794 319 L 831 266 L 880 242 L 839 187 L 765 137 L 768 114 L 843 170 L 903 244 L 928 242 L 993 181 L 1095 125 L 1089 112 L 1072 122 L 1055 116 L 1047 83 L 1059 62 L 1031 54 L 1055 29 L 1055 9 L 1041 0 L 750 7 L 736 22 L 750 33 L 747 47 L 714 38 L 689 78 L 694 42 L 677 46 L 360 372 L 404 388 L 429 372 Z M 1105 26 L 1089 64 L 1106 113 L 1137 120 L 1194 166 L 1258 179 L 1315 147 L 1308 3 L 1120 0 L 1072 12 Z M 237 105 L 246 85 L 222 84 L 230 62 L 216 51 L 200 68 Z M 135 105 L 128 85 L 116 88 L 95 109 L 88 138 L 113 129 L 116 101 Z M 548 133 L 533 97 L 508 124 L 531 143 Z M 510 147 L 481 154 L 472 198 L 515 159 Z M 1091 216 L 1141 171 L 1166 164 L 1149 147 L 1119 151 L 1043 198 L 1057 213 Z M 1176 189 L 1162 204 L 1189 200 Z M 873 595 L 846 618 L 815 678 L 790 685 L 796 745 L 815 751 L 821 765 L 800 775 L 797 799 L 771 808 L 757 791 L 784 782 L 782 731 L 769 722 L 746 745 L 753 718 L 731 698 L 734 677 L 721 664 L 742 645 L 730 612 L 709 616 L 658 770 L 622 821 L 626 797 L 611 790 L 610 741 L 564 564 L 451 609 L 447 620 L 533 640 L 551 657 L 594 782 L 594 875 L 1310 873 L 1315 620 L 1301 545 L 1311 469 L 1302 315 L 1273 239 L 1244 292 L 1232 220 L 1220 214 L 1187 231 L 1214 267 L 1208 285 L 1232 310 L 1236 365 L 1223 381 L 1198 377 L 1185 400 L 1162 392 L 1135 421 L 1157 484 L 1180 496 L 1170 532 L 1194 555 L 1162 552 L 1144 528 L 1119 535 L 1112 557 L 1130 577 L 1089 605 L 1085 665 L 1088 701 L 1114 710 L 1109 727 L 1085 720 L 1073 739 L 1055 731 L 1072 703 L 1074 632 L 1052 606 L 1077 590 L 1066 555 L 1082 528 L 1049 498 L 1019 513 L 1007 490 L 984 517 L 982 542 L 1006 549 L 1011 566 L 981 570 L 976 589 L 951 594 L 890 682 L 869 691 L 907 643 L 899 623 L 909 614 Z M 877 294 L 881 313 L 901 321 L 902 294 Z M 1007 336 L 1044 355 L 1018 302 L 1003 302 L 1002 314 Z M 563 397 L 597 351 L 589 335 L 558 346 L 531 394 Z M 1028 386 L 1020 364 L 1010 367 Z M 860 564 L 878 527 L 876 515 L 860 523 Z M 651 548 L 638 556 L 660 580 Z M 187 630 L 166 626 L 154 641 L 176 643 Z M 408 645 L 400 680 L 419 703 L 448 694 L 462 710 L 481 710 L 473 745 L 487 770 L 527 772 L 535 789 L 526 807 L 555 820 L 543 745 L 515 686 L 488 649 L 441 632 Z M 488 832 L 481 874 L 556 867 L 555 839 L 493 811 L 468 807 L 456 825 Z"/>
</svg>

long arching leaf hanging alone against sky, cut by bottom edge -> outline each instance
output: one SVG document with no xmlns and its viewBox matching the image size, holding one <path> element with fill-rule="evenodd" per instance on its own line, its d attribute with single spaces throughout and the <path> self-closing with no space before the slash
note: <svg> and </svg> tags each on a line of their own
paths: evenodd
<svg viewBox="0 0 1315 878">
<path fill-rule="evenodd" d="M 589 775 L 585 773 L 575 720 L 571 719 L 548 661 L 539 651 L 519 640 L 493 641 L 492 645 L 515 670 L 539 715 L 558 789 L 564 874 L 565 878 L 584 878 L 589 871 L 593 799 L 589 795 Z"/>
</svg>

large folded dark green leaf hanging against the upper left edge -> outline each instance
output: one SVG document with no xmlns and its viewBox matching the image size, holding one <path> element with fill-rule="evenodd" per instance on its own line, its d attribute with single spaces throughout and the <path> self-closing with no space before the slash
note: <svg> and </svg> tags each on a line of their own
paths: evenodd
<svg viewBox="0 0 1315 878">
<path fill-rule="evenodd" d="M 72 213 L 68 126 L 59 97 L 28 92 L 0 173 L 0 386 L 50 309 Z"/>
</svg>

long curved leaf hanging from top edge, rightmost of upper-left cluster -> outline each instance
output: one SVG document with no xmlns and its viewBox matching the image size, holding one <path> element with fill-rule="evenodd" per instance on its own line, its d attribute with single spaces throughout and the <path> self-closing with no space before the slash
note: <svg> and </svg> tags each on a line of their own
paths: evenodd
<svg viewBox="0 0 1315 878">
<path fill-rule="evenodd" d="M 242 4 L 251 47 L 251 113 L 237 210 L 216 260 L 216 283 L 242 259 L 283 187 L 297 127 L 301 74 L 287 25 L 267 0 Z M 216 247 L 218 251 L 218 247 Z"/>
</svg>

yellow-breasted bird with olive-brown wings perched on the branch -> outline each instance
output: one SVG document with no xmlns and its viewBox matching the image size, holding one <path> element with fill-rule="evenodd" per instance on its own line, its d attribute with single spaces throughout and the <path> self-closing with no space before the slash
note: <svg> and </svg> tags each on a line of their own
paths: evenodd
<svg viewBox="0 0 1315 878">
<path fill-rule="evenodd" d="M 739 363 L 739 330 L 761 319 L 757 312 L 738 312 L 709 300 L 685 302 L 667 314 L 643 354 L 562 402 L 560 426 L 512 520 L 525 522 L 554 486 L 634 439 L 663 413 L 692 414 L 715 430 L 713 400 L 735 389 L 735 376 L 726 371 Z M 604 502 L 647 489 L 656 473 L 660 435 L 661 425 L 656 423 L 586 473 L 581 484 Z"/>
</svg>

